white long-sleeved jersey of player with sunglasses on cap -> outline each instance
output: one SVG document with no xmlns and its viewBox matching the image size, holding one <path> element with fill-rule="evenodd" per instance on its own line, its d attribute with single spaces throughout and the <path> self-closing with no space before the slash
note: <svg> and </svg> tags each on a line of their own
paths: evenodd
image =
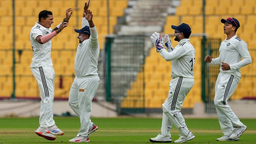
<svg viewBox="0 0 256 144">
<path fill-rule="evenodd" d="M 234 75 L 235 79 L 239 81 L 241 78 L 240 68 L 252 62 L 247 43 L 236 35 L 229 40 L 226 38 L 220 44 L 219 57 L 212 59 L 208 64 L 221 65 L 221 62 L 229 64 L 230 70 L 222 70 L 220 66 L 220 72 Z"/>
</svg>

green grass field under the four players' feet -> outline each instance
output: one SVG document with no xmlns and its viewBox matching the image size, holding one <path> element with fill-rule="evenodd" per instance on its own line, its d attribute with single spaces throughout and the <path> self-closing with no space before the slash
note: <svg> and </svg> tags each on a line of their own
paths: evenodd
<svg viewBox="0 0 256 144">
<path fill-rule="evenodd" d="M 0 144 L 68 144 L 80 127 L 77 117 L 56 117 L 56 124 L 65 135 L 48 141 L 35 134 L 38 118 L 1 118 Z M 161 119 L 154 118 L 92 118 L 99 128 L 90 135 L 91 144 L 151 144 L 150 138 L 160 132 Z M 216 141 L 222 136 L 218 119 L 186 119 L 195 139 L 190 144 L 256 144 L 255 119 L 241 119 L 248 126 L 239 141 Z M 172 140 L 179 138 L 175 127 L 171 131 Z M 172 142 L 173 143 L 173 142 Z"/>
</svg>

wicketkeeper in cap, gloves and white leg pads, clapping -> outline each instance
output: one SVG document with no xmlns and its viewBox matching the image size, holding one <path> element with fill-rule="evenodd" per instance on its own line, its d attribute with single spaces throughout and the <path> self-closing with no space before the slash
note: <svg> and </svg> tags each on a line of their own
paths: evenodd
<svg viewBox="0 0 256 144">
<path fill-rule="evenodd" d="M 171 128 L 174 125 L 181 136 L 175 143 L 184 143 L 195 138 L 185 124 L 185 120 L 180 112 L 186 95 L 194 85 L 194 65 L 195 49 L 190 43 L 189 36 L 191 28 L 188 24 L 182 23 L 179 26 L 172 25 L 175 29 L 175 41 L 178 45 L 173 49 L 171 40 L 165 35 L 164 42 L 168 52 L 163 46 L 163 38 L 159 33 L 154 33 L 150 37 L 156 46 L 157 52 L 166 60 L 172 61 L 172 80 L 168 98 L 162 104 L 163 117 L 161 133 L 155 138 L 150 138 L 153 143 L 172 142 Z"/>
</svg>

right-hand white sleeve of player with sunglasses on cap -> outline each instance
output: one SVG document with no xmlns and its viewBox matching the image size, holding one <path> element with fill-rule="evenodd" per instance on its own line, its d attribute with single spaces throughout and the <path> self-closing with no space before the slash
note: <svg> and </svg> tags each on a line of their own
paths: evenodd
<svg viewBox="0 0 256 144">
<path fill-rule="evenodd" d="M 248 46 L 245 42 L 240 41 L 235 48 L 238 51 L 238 53 L 242 56 L 243 60 L 239 61 L 238 63 L 229 65 L 230 70 L 238 69 L 252 63 L 252 58 L 249 54 Z"/>
</svg>

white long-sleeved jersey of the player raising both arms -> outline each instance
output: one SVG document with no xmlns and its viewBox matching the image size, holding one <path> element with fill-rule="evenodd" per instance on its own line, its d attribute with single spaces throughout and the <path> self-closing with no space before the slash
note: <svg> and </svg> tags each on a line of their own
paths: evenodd
<svg viewBox="0 0 256 144">
<path fill-rule="evenodd" d="M 82 27 L 88 24 L 88 21 L 82 18 Z M 84 40 L 77 47 L 75 57 L 75 73 L 76 77 L 98 76 L 98 58 L 99 58 L 99 42 L 96 27 L 90 27 L 91 36 Z"/>
</svg>

